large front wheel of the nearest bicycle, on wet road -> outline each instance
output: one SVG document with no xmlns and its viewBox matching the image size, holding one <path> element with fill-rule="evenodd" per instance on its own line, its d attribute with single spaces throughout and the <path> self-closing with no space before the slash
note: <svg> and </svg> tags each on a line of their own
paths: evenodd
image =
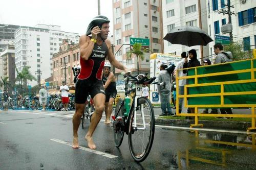
<svg viewBox="0 0 256 170">
<path fill-rule="evenodd" d="M 150 100 L 138 99 L 138 110 L 135 125 L 135 113 L 132 112 L 129 122 L 129 148 L 135 161 L 142 162 L 150 153 L 155 134 L 155 116 Z"/>
</svg>

